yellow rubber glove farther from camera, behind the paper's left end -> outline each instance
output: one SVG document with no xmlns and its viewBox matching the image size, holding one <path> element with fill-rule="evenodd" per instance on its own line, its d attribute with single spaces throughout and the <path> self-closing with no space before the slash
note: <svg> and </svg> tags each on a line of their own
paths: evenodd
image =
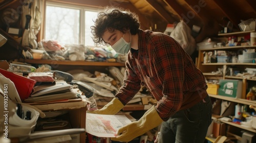
<svg viewBox="0 0 256 143">
<path fill-rule="evenodd" d="M 117 99 L 114 98 L 111 102 L 106 104 L 103 108 L 97 109 L 94 111 L 87 111 L 93 114 L 105 114 L 105 115 L 114 115 L 123 108 L 123 104 Z"/>
</svg>

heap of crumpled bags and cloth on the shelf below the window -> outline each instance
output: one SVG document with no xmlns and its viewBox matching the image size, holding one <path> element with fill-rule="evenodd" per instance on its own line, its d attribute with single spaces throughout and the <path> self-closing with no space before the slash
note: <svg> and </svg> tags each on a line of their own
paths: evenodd
<svg viewBox="0 0 256 143">
<path fill-rule="evenodd" d="M 111 47 L 89 47 L 82 44 L 61 44 L 55 40 L 41 40 L 36 49 L 23 54 L 28 59 L 125 62 L 126 55 L 117 54 Z"/>
</svg>

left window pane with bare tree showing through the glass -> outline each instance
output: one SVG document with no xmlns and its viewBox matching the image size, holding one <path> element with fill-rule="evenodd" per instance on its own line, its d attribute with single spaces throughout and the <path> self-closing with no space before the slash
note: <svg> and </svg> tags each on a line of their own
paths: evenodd
<svg viewBox="0 0 256 143">
<path fill-rule="evenodd" d="M 76 9 L 47 6 L 45 39 L 79 44 L 79 12 Z"/>
</svg>

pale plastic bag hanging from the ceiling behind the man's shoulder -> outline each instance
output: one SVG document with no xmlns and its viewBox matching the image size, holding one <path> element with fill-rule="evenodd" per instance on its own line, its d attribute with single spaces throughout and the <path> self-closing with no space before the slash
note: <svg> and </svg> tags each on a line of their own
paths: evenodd
<svg viewBox="0 0 256 143">
<path fill-rule="evenodd" d="M 191 29 L 183 20 L 181 20 L 173 32 L 170 33 L 170 37 L 173 37 L 176 41 L 178 41 L 188 55 L 191 56 L 195 51 L 196 41 L 194 37 L 191 36 Z"/>
</svg>

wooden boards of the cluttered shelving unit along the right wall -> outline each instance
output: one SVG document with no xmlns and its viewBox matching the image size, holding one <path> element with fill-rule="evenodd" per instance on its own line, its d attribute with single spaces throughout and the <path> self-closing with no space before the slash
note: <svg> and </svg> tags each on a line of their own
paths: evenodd
<svg viewBox="0 0 256 143">
<path fill-rule="evenodd" d="M 244 36 L 247 34 L 250 34 L 250 32 L 254 31 L 248 31 L 248 32 L 234 32 L 234 33 L 225 33 L 225 34 L 219 34 L 218 36 L 222 37 L 231 37 L 231 36 Z M 215 51 L 233 51 L 233 52 L 242 52 L 245 49 L 256 49 L 256 45 L 239 45 L 239 46 L 224 46 L 224 47 L 214 47 L 211 49 L 202 49 L 199 50 L 199 57 L 197 59 L 197 66 L 198 68 L 202 71 L 203 75 L 205 76 L 206 79 L 208 80 L 220 80 L 220 79 L 236 79 L 236 80 L 241 80 L 242 81 L 242 95 L 241 99 L 238 98 L 230 98 L 230 97 L 225 97 L 221 95 L 214 95 L 214 94 L 209 94 L 209 96 L 213 99 L 221 99 L 225 101 L 230 101 L 234 103 L 239 103 L 243 105 L 252 105 L 256 107 L 256 100 L 255 101 L 249 101 L 246 100 L 246 93 L 247 89 L 251 86 L 256 85 L 256 78 L 246 78 L 246 77 L 237 77 L 237 76 L 230 76 L 227 74 L 226 69 L 228 67 L 237 67 L 241 70 L 244 70 L 245 68 L 256 68 L 256 63 L 204 63 L 204 53 L 205 52 L 215 52 Z M 223 68 L 223 74 L 215 74 L 215 72 L 212 71 L 218 71 L 218 68 Z M 232 123 L 232 122 L 226 122 L 226 121 L 221 121 L 227 125 L 230 125 L 231 127 L 238 128 L 241 130 L 247 130 L 249 132 L 256 133 L 256 129 L 254 128 L 246 128 L 242 125 Z M 234 136 L 234 138 L 237 138 L 238 140 L 241 141 L 241 136 L 232 134 L 230 132 L 226 133 L 227 135 Z M 206 138 L 207 139 L 207 138 Z M 208 139 L 207 139 L 208 140 Z"/>
</svg>

